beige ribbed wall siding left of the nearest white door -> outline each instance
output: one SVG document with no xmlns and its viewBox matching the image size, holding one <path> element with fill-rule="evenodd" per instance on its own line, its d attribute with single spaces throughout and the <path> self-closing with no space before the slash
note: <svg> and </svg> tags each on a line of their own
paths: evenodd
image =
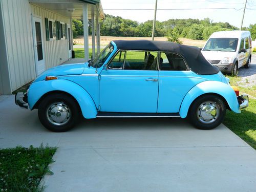
<svg viewBox="0 0 256 192">
<path fill-rule="evenodd" d="M 1 0 L 11 90 L 35 78 L 28 0 Z"/>
</svg>

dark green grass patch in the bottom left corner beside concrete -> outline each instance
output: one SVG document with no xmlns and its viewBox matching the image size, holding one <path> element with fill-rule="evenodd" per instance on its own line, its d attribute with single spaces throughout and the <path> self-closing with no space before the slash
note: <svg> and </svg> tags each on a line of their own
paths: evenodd
<svg viewBox="0 0 256 192">
<path fill-rule="evenodd" d="M 55 147 L 0 149 L 0 191 L 43 191 L 39 183 L 45 174 L 53 174 L 49 163 Z"/>
</svg>

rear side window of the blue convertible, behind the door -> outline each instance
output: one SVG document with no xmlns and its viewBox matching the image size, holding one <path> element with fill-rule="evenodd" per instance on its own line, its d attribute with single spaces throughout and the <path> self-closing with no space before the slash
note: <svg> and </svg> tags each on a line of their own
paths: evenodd
<svg viewBox="0 0 256 192">
<path fill-rule="evenodd" d="M 162 71 L 187 70 L 186 63 L 180 55 L 168 52 L 160 52 L 159 66 Z"/>
</svg>

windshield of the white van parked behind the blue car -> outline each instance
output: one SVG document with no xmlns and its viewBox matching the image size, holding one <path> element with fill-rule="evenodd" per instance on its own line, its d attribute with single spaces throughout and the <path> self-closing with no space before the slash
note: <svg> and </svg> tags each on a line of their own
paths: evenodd
<svg viewBox="0 0 256 192">
<path fill-rule="evenodd" d="M 236 51 L 238 38 L 210 38 L 203 51 Z"/>
</svg>

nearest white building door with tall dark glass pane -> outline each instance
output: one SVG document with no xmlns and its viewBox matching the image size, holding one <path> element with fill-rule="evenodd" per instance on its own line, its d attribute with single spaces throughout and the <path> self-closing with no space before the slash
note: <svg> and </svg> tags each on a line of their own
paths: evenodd
<svg viewBox="0 0 256 192">
<path fill-rule="evenodd" d="M 44 54 L 44 40 L 42 39 L 42 20 L 39 17 L 32 16 L 33 45 L 35 54 L 36 76 L 46 70 L 46 61 Z"/>
</svg>

